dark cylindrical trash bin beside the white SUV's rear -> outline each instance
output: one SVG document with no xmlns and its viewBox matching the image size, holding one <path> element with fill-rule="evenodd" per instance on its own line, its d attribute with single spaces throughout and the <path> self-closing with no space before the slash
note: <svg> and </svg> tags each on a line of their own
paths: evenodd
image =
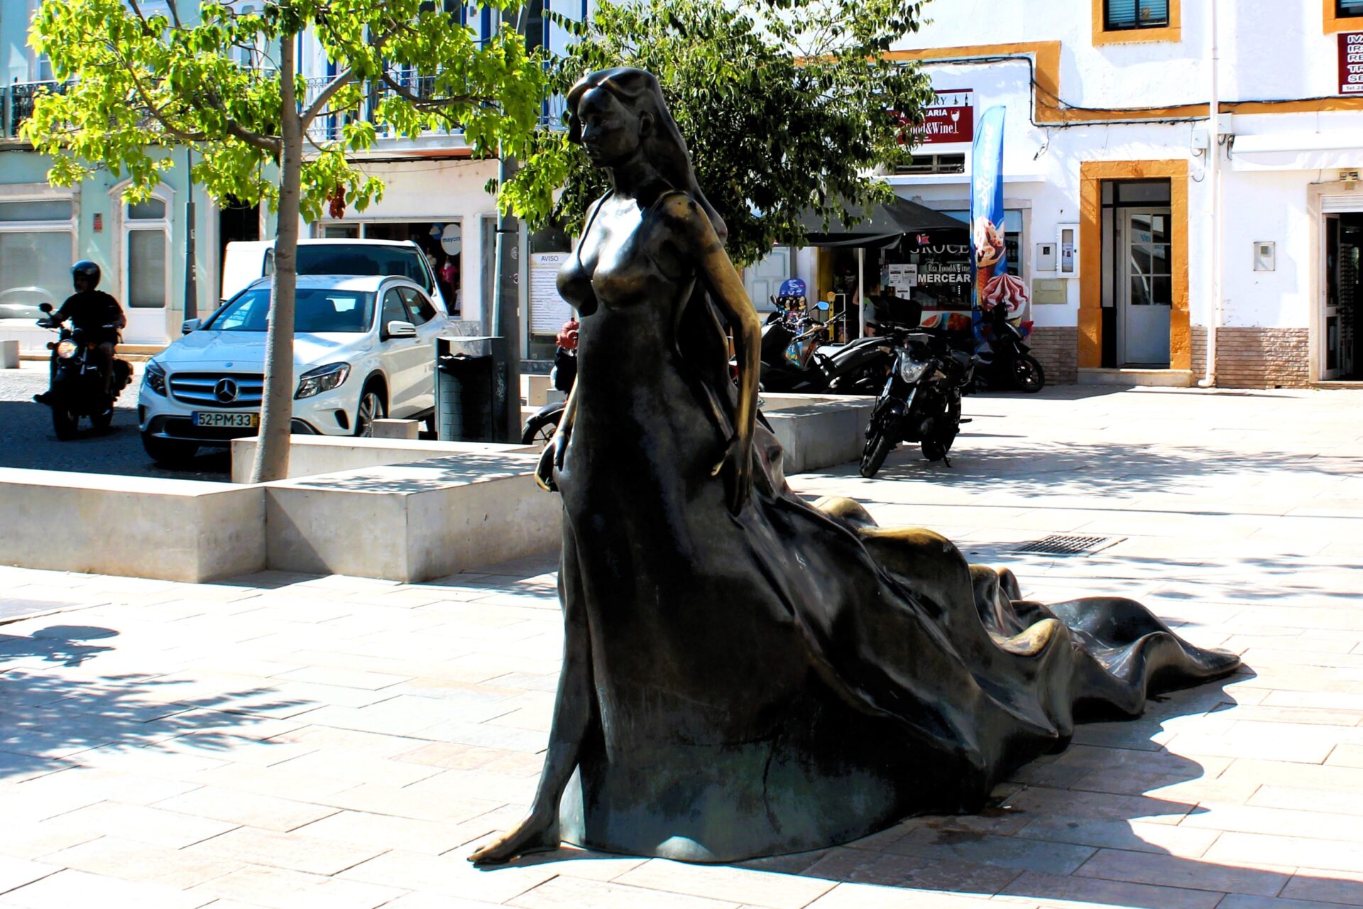
<svg viewBox="0 0 1363 909">
<path fill-rule="evenodd" d="M 438 338 L 435 425 L 440 442 L 502 442 L 495 364 L 504 338 Z M 504 358 L 504 357 L 503 357 Z"/>
</svg>

